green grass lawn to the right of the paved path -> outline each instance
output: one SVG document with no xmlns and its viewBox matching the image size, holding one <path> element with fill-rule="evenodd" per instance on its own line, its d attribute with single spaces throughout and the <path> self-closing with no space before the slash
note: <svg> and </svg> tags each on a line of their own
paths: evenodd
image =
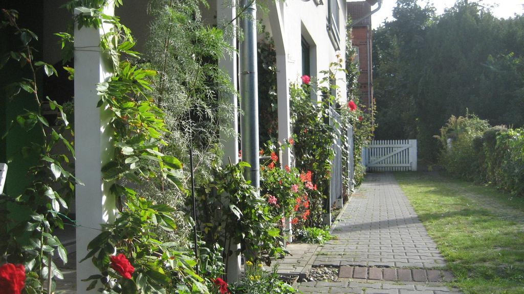
<svg viewBox="0 0 524 294">
<path fill-rule="evenodd" d="M 434 173 L 395 177 L 455 274 L 453 286 L 524 293 L 524 199 Z"/>
</svg>

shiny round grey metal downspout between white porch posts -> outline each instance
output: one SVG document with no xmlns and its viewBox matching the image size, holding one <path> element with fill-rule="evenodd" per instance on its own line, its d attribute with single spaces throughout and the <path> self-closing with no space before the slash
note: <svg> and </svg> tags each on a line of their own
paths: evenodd
<svg viewBox="0 0 524 294">
<path fill-rule="evenodd" d="M 257 28 L 254 0 L 242 0 L 245 16 L 240 20 L 244 41 L 240 44 L 241 148 L 243 161 L 251 165 L 246 178 L 260 187 L 258 145 Z"/>
</svg>

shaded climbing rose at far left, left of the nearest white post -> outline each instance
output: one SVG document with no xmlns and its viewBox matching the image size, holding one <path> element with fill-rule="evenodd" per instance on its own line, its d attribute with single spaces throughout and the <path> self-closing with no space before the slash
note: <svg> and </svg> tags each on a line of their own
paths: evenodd
<svg viewBox="0 0 524 294">
<path fill-rule="evenodd" d="M 63 278 L 53 262 L 54 253 L 58 253 L 63 263 L 68 261 L 64 246 L 53 233 L 63 229 L 64 220 L 68 220 L 64 214 L 68 210 L 67 200 L 72 198 L 75 184 L 81 182 L 75 179 L 69 166 L 74 161 L 74 149 L 73 143 L 66 139 L 65 133 L 70 133 L 69 137 L 73 133 L 67 115 L 63 107 L 52 100 L 56 97 L 42 98 L 37 85 L 39 74 L 52 76 L 57 75 L 57 71 L 52 65 L 35 59 L 34 43 L 38 36 L 19 27 L 17 21 L 16 10 L 2 9 L 0 29 L 18 37 L 20 50 L 2 56 L 0 69 L 7 62 L 16 62 L 27 71 L 27 77 L 8 85 L 6 92 L 10 99 L 29 93 L 36 109 L 25 109 L 18 114 L 2 140 L 18 128 L 25 132 L 38 130 L 36 140 L 20 150 L 24 156 L 36 154 L 38 159 L 29 167 L 32 181 L 22 194 L 0 195 L 0 263 L 15 264 L 23 269 L 19 275 L 23 275 L 20 278 L 25 280 L 28 293 L 50 293 L 55 287 L 54 278 Z M 57 111 L 58 123 L 49 123 L 43 116 L 45 105 Z M 60 145 L 64 148 L 58 148 Z M 64 152 L 56 151 L 61 149 Z M 12 290 L 19 293 L 21 288 Z"/>
</svg>

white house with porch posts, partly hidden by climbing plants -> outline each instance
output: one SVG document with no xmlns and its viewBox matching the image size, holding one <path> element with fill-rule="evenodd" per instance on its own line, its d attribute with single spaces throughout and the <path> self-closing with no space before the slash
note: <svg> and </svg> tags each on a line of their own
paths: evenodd
<svg viewBox="0 0 524 294">
<path fill-rule="evenodd" d="M 346 44 L 346 3 L 341 0 L 279 0 L 269 1 L 268 13 L 257 15 L 257 19 L 266 26 L 275 41 L 277 53 L 277 81 L 278 81 L 278 125 L 279 140 L 284 141 L 291 137 L 289 119 L 289 84 L 299 83 L 300 77 L 307 73 L 319 76 L 321 71 L 328 70 L 331 62 L 344 58 Z M 23 12 L 30 10 L 34 17 L 33 25 L 37 35 L 41 36 L 42 60 L 49 64 L 60 62 L 61 53 L 56 42 L 58 37 L 53 33 L 64 31 L 71 17 L 65 9 L 58 9 L 65 0 L 46 0 L 35 3 L 32 0 L 11 1 L 13 8 Z M 204 21 L 209 25 L 220 25 L 223 19 L 232 19 L 236 15 L 235 8 L 224 5 L 223 0 L 212 0 L 210 8 L 203 8 Z M 30 7 L 30 9 L 28 9 Z M 137 40 L 137 51 L 145 51 L 144 42 L 147 39 L 148 23 L 151 19 L 146 13 L 146 0 L 125 0 L 122 7 L 114 12 L 107 8 L 106 13 L 114 13 L 121 17 L 122 23 L 133 31 Z M 260 12 L 260 10 L 259 10 Z M 102 30 L 91 28 L 75 28 L 75 48 L 97 48 Z M 236 40 L 231 40 L 236 46 Z M 97 228 L 100 223 L 111 221 L 115 214 L 113 197 L 108 193 L 102 180 L 101 167 L 109 159 L 111 138 L 105 131 L 103 112 L 96 108 L 99 97 L 96 95 L 95 84 L 103 82 L 108 72 L 97 50 L 75 50 L 74 67 L 74 96 L 75 96 L 75 149 L 77 155 L 76 175 L 81 178 L 85 186 L 76 190 L 75 218 L 83 227 Z M 222 68 L 230 74 L 233 84 L 237 85 L 239 78 L 238 63 L 243 58 L 243 52 L 233 59 L 224 58 L 220 61 Z M 345 75 L 340 72 L 336 83 L 340 83 L 338 96 L 342 100 L 346 97 L 344 84 Z M 313 94 L 313 98 L 315 98 Z M 231 98 L 236 104 L 237 97 Z M 341 101 L 343 103 L 344 101 Z M 9 107 L 15 107 L 10 105 Z M 15 111 L 15 108 L 3 107 L 0 116 Z M 232 122 L 238 131 L 237 122 Z M 2 127 L 2 125 L 0 125 Z M 2 132 L 3 133 L 3 132 Z M 238 146 L 236 138 L 224 140 L 225 157 L 237 159 Z M 16 148 L 16 144 L 7 143 L 5 149 Z M 258 150 L 256 151 L 258 152 Z M 5 161 L 1 156 L 0 162 Z M 289 154 L 283 154 L 283 165 L 292 166 Z M 9 166 L 9 173 L 19 174 L 16 165 Z M 8 176 L 9 181 L 9 176 Z M 76 237 L 72 238 L 70 249 L 77 252 L 77 285 L 78 293 L 87 293 L 86 282 L 81 279 L 96 273 L 96 269 L 89 262 L 78 263 L 87 253 L 86 245 L 94 238 L 97 231 L 78 228 Z M 67 238 L 65 236 L 64 238 Z M 67 243 L 68 240 L 63 240 Z M 70 240 L 71 241 L 71 240 Z M 237 261 L 238 262 L 238 261 Z M 233 268 L 233 267 L 231 267 Z"/>
</svg>

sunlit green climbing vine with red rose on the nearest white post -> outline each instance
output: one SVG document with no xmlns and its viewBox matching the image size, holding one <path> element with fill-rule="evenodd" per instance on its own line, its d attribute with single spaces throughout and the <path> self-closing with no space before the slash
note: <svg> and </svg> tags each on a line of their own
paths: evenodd
<svg viewBox="0 0 524 294">
<path fill-rule="evenodd" d="M 70 3 L 71 7 L 78 4 Z M 88 289 L 101 285 L 101 292 L 165 293 L 178 289 L 180 293 L 206 293 L 206 281 L 195 272 L 198 261 L 187 255 L 190 252 L 175 250 L 177 243 L 165 238 L 165 232 L 177 229 L 176 209 L 140 197 L 133 189 L 144 185 L 184 189 L 182 163 L 164 148 L 166 116 L 153 97 L 157 72 L 137 63 L 140 55 L 132 51 L 133 36 L 117 17 L 103 13 L 107 3 L 82 4 L 91 5 L 74 8 L 79 13 L 79 27 L 99 27 L 102 22 L 111 25 L 100 47 L 112 64 L 112 75 L 97 85 L 97 92 L 98 107 L 111 116 L 114 154 L 102 172 L 112 193 L 124 204 L 115 222 L 103 225 L 102 233 L 88 246 L 84 260 L 91 258 L 101 272 L 86 277 L 91 280 Z"/>
</svg>

